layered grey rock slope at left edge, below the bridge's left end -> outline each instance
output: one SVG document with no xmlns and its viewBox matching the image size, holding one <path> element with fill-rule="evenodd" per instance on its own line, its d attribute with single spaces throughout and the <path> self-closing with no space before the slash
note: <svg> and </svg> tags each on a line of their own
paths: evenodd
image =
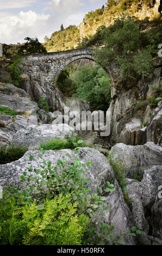
<svg viewBox="0 0 162 256">
<path fill-rule="evenodd" d="M 35 102 L 30 101 L 24 90 L 16 88 L 12 84 L 7 84 L 6 87 L 3 84 L 0 92 L 0 106 L 17 112 L 15 116 L 0 114 L 0 145 L 2 145 L 10 143 L 14 133 L 18 130 L 26 129 L 29 125 L 38 125 L 36 117 L 38 106 Z M 2 94 L 2 92 L 6 94 Z"/>
</svg>

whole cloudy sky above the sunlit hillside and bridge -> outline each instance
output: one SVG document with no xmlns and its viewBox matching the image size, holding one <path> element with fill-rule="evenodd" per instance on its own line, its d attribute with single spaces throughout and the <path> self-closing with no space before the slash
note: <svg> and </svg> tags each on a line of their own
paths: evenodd
<svg viewBox="0 0 162 256">
<path fill-rule="evenodd" d="M 107 0 L 0 0 L 0 42 L 17 44 L 24 38 L 45 36 L 69 25 L 78 26 L 84 15 Z"/>
</svg>

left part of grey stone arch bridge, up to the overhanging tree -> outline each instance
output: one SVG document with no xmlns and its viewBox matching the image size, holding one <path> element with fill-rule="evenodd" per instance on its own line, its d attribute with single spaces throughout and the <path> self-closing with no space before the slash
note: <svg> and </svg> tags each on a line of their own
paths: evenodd
<svg viewBox="0 0 162 256">
<path fill-rule="evenodd" d="M 21 57 L 21 69 L 30 77 L 30 80 L 39 81 L 41 87 L 46 83 L 55 85 L 60 72 L 68 64 L 83 58 L 94 60 L 92 54 L 92 48 L 30 54 Z"/>
</svg>

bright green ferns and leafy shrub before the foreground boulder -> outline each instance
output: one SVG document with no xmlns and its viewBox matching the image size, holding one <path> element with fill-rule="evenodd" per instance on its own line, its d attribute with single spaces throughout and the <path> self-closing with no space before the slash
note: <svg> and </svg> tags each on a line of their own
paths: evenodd
<svg viewBox="0 0 162 256">
<path fill-rule="evenodd" d="M 81 143 L 81 140 L 78 141 L 78 144 Z M 82 175 L 88 172 L 90 162 L 81 164 L 76 158 L 67 164 L 65 160 L 58 160 L 57 167 L 52 167 L 51 161 L 43 160 L 43 153 L 38 155 L 42 161 L 40 169 L 30 166 L 29 175 L 28 172 L 21 175 L 21 181 L 26 182 L 26 190 L 22 191 L 17 185 L 10 192 L 3 190 L 3 198 L 0 199 L 0 244 L 123 244 L 122 231 L 113 239 L 111 231 L 114 227 L 101 223 L 99 233 L 91 229 L 96 212 L 108 210 L 103 203 L 106 200 L 104 194 L 114 191 L 114 185 L 107 181 L 104 191 L 98 188 L 99 195 L 90 193 L 90 179 Z M 78 149 L 74 153 L 78 154 Z M 72 159 L 70 154 L 66 157 Z M 34 157 L 30 156 L 29 160 L 32 163 Z M 140 234 L 136 227 L 132 231 L 134 233 L 126 235 Z"/>
</svg>

